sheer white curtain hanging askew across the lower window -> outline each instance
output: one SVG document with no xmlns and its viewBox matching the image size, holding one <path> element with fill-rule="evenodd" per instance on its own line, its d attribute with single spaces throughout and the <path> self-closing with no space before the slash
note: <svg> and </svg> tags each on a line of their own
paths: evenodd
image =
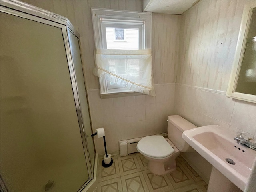
<svg viewBox="0 0 256 192">
<path fill-rule="evenodd" d="M 155 96 L 151 50 L 95 50 L 94 75 L 135 92 Z"/>
</svg>

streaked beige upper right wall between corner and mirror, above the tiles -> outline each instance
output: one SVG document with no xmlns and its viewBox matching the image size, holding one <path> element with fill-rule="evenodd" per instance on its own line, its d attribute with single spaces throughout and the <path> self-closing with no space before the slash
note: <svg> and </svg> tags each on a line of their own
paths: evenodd
<svg viewBox="0 0 256 192">
<path fill-rule="evenodd" d="M 247 2 L 200 1 L 182 14 L 178 83 L 226 91 Z"/>
</svg>

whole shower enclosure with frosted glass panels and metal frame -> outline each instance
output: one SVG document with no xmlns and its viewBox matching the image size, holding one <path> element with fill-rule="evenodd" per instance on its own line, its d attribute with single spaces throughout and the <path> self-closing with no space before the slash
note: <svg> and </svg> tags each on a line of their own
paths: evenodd
<svg viewBox="0 0 256 192">
<path fill-rule="evenodd" d="M 95 151 L 79 34 L 57 14 L 0 3 L 1 192 L 80 192 Z"/>
</svg>

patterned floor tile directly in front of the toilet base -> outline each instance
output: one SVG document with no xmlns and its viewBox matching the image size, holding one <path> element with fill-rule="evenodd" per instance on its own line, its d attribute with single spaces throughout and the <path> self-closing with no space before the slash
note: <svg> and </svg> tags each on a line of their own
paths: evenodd
<svg viewBox="0 0 256 192">
<path fill-rule="evenodd" d="M 170 192 L 173 186 L 166 175 L 154 175 L 149 170 L 142 171 L 148 189 L 152 192 Z"/>
</svg>

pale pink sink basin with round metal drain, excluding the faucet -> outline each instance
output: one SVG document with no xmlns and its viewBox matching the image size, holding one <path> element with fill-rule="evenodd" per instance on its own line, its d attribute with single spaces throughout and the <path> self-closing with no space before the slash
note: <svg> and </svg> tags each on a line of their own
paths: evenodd
<svg viewBox="0 0 256 192">
<path fill-rule="evenodd" d="M 235 132 L 217 125 L 208 125 L 186 130 L 182 138 L 202 155 L 226 178 L 244 191 L 248 182 L 256 151 L 237 144 Z M 226 159 L 232 159 L 230 164 Z"/>
</svg>

